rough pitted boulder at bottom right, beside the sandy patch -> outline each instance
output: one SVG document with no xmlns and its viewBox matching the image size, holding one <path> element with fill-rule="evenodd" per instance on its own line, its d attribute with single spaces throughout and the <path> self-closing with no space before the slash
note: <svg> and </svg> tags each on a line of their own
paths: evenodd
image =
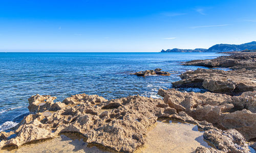
<svg viewBox="0 0 256 153">
<path fill-rule="evenodd" d="M 249 152 L 246 140 L 235 129 L 209 129 L 204 133 L 204 139 L 224 152 Z"/>
</svg>

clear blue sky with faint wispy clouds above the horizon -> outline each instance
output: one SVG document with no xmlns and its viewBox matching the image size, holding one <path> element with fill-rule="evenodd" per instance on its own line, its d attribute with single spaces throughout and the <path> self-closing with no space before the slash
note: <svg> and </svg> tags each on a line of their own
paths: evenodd
<svg viewBox="0 0 256 153">
<path fill-rule="evenodd" d="M 159 52 L 256 40 L 255 0 L 0 0 L 0 52 Z"/>
</svg>

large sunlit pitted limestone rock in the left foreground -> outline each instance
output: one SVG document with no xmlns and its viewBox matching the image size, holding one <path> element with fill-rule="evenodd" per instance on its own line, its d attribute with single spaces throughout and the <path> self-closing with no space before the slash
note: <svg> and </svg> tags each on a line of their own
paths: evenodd
<svg viewBox="0 0 256 153">
<path fill-rule="evenodd" d="M 60 110 L 50 111 L 56 97 L 35 95 L 29 99 L 30 114 L 6 133 L 0 148 L 55 138 L 61 133 L 79 133 L 88 143 L 116 151 L 132 152 L 145 142 L 147 128 L 158 117 L 177 114 L 161 99 L 130 96 L 106 101 L 97 95 L 79 94 L 60 102 Z M 40 105 L 45 103 L 44 105 Z M 10 137 L 10 138 L 6 138 Z"/>
</svg>

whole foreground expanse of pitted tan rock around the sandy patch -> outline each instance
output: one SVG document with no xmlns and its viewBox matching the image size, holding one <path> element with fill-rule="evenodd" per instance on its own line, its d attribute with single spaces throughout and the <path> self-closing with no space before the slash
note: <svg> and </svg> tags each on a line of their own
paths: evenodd
<svg viewBox="0 0 256 153">
<path fill-rule="evenodd" d="M 159 90 L 159 95 L 164 99 L 129 96 L 106 100 L 98 95 L 78 94 L 62 102 L 54 102 L 56 97 L 49 95 L 35 95 L 29 98 L 31 114 L 10 132 L 0 133 L 0 148 L 18 148 L 75 133 L 91 144 L 133 152 L 145 143 L 149 127 L 158 119 L 168 118 L 197 124 L 205 130 L 204 139 L 214 147 L 198 147 L 196 152 L 249 152 L 246 140 L 256 137 L 256 114 L 252 113 L 253 108 L 252 112 L 229 111 L 235 105 L 255 106 L 251 94 L 233 98 L 173 89 Z"/>
</svg>

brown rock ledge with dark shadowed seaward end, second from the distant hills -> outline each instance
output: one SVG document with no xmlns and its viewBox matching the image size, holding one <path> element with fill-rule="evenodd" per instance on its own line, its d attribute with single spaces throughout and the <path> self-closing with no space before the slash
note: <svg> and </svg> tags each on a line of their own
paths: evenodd
<svg viewBox="0 0 256 153">
<path fill-rule="evenodd" d="M 256 91 L 256 70 L 197 69 L 181 74 L 180 78 L 182 80 L 172 82 L 174 88 L 204 88 L 228 95 Z"/>
</svg>

